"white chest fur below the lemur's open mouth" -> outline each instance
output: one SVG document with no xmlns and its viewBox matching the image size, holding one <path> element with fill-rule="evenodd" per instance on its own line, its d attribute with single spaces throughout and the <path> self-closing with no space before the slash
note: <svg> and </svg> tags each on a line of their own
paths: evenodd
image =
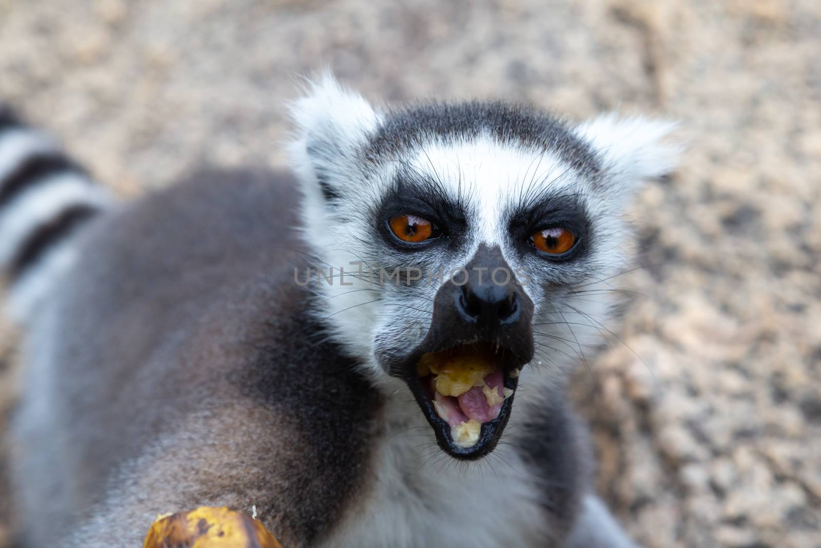
<svg viewBox="0 0 821 548">
<path fill-rule="evenodd" d="M 405 388 L 386 413 L 374 482 L 323 546 L 533 546 L 550 536 L 538 487 L 516 451 L 459 463 L 438 451 Z"/>
</svg>

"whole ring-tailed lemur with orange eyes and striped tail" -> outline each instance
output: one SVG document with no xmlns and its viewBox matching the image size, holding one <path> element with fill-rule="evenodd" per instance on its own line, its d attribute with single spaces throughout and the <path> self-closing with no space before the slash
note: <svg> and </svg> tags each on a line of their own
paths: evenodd
<svg viewBox="0 0 821 548">
<path fill-rule="evenodd" d="M 252 504 L 283 546 L 635 546 L 565 392 L 672 123 L 374 108 L 333 76 L 291 113 L 290 170 L 122 203 L 3 111 L 21 546 Z"/>
</svg>

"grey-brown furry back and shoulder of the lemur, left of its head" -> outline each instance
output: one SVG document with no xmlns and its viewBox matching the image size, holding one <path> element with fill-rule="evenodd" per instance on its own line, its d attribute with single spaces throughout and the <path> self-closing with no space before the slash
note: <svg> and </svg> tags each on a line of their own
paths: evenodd
<svg viewBox="0 0 821 548">
<path fill-rule="evenodd" d="M 31 546 L 101 516 L 89 546 L 136 546 L 163 507 L 254 501 L 288 546 L 338 518 L 379 403 L 350 358 L 303 331 L 308 296 L 287 265 L 304 256 L 272 242 L 295 239 L 294 200 L 289 177 L 202 174 L 89 227 L 86 260 L 39 320 L 70 329 L 29 345 L 13 478 Z M 126 523 L 140 523 L 127 532 L 94 508 L 120 481 Z"/>
</svg>

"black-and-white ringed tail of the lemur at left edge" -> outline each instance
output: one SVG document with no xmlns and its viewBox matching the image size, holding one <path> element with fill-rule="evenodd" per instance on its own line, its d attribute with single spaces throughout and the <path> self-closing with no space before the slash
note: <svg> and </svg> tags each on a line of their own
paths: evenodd
<svg viewBox="0 0 821 548">
<path fill-rule="evenodd" d="M 12 319 L 36 308 L 74 260 L 78 228 L 110 201 L 54 140 L 0 105 L 0 275 Z"/>
</svg>

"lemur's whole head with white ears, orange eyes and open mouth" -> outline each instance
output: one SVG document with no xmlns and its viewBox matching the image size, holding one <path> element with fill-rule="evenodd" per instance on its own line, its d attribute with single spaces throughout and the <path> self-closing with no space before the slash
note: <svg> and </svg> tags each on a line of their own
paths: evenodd
<svg viewBox="0 0 821 548">
<path fill-rule="evenodd" d="M 442 449 L 488 454 L 519 379 L 560 382 L 601 336 L 630 260 L 625 201 L 674 166 L 672 124 L 377 110 L 330 76 L 292 114 L 316 313 L 388 397 L 410 387 Z"/>
</svg>

